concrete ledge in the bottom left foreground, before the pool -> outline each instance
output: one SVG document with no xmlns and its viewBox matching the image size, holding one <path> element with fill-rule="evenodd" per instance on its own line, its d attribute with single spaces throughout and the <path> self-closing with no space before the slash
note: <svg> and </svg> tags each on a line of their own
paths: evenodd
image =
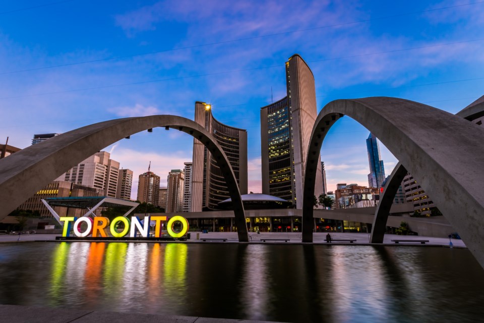
<svg viewBox="0 0 484 323">
<path fill-rule="evenodd" d="M 0 313 L 2 323 L 264 323 L 264 321 L 241 319 L 85 311 L 18 305 L 0 305 Z"/>
</svg>

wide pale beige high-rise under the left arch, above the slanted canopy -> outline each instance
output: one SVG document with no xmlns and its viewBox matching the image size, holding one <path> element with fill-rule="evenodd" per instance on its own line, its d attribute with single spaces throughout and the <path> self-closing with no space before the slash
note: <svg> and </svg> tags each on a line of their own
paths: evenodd
<svg viewBox="0 0 484 323">
<path fill-rule="evenodd" d="M 96 152 L 56 180 L 101 189 L 106 196 L 116 197 L 119 162 L 110 156 L 107 151 Z"/>
</svg>

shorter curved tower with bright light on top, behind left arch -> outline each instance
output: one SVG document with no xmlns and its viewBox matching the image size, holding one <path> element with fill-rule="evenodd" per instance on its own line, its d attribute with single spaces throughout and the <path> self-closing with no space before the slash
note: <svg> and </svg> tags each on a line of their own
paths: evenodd
<svg viewBox="0 0 484 323">
<path fill-rule="evenodd" d="M 195 102 L 195 122 L 215 137 L 227 155 L 240 194 L 247 194 L 247 130 L 220 123 L 212 116 L 212 106 L 199 101 Z M 199 140 L 194 139 L 191 210 L 218 209 L 218 202 L 229 197 L 217 161 Z"/>
</svg>

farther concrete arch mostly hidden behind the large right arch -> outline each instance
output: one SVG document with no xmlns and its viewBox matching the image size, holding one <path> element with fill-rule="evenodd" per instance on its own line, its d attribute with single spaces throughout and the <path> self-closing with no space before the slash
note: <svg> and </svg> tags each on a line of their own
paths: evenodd
<svg viewBox="0 0 484 323">
<path fill-rule="evenodd" d="M 481 96 L 467 105 L 464 109 L 459 111 L 456 116 L 469 121 L 474 121 L 475 119 L 484 116 L 484 96 Z M 403 167 L 402 163 L 398 162 L 384 187 L 373 220 L 372 234 L 370 238 L 372 243 L 383 243 L 389 211 L 398 187 L 403 181 L 406 173 L 407 170 L 405 167 Z"/>
</svg>

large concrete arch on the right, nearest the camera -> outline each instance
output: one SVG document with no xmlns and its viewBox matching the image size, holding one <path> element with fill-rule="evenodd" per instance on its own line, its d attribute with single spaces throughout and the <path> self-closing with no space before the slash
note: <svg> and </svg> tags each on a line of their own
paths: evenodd
<svg viewBox="0 0 484 323">
<path fill-rule="evenodd" d="M 328 129 L 343 115 L 364 125 L 400 160 L 484 266 L 484 129 L 432 106 L 399 98 L 335 100 L 320 112 L 307 158 L 302 240 L 313 240 L 315 156 Z"/>
</svg>

